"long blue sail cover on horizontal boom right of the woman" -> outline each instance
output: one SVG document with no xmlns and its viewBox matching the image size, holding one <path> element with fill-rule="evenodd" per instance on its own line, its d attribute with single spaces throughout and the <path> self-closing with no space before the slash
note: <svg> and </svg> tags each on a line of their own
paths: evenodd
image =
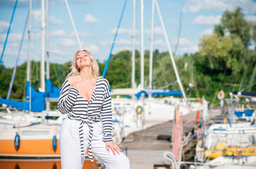
<svg viewBox="0 0 256 169">
<path fill-rule="evenodd" d="M 142 93 L 144 93 L 146 96 L 148 96 L 148 94 L 152 94 L 152 96 L 155 96 L 157 94 L 159 94 L 159 95 L 175 95 L 175 96 L 182 95 L 181 91 L 164 90 L 164 89 L 145 89 L 145 90 L 138 92 L 138 94 L 135 94 L 135 96 L 139 99 Z"/>
</svg>

